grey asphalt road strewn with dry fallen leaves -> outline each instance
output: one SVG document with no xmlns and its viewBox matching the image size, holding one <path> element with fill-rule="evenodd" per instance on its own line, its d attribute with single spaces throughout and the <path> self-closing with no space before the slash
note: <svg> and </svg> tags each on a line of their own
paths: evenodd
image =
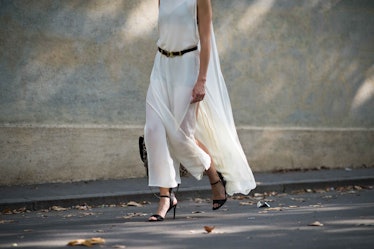
<svg viewBox="0 0 374 249">
<path fill-rule="evenodd" d="M 141 203 L 68 209 L 5 210 L 0 248 L 69 248 L 76 239 L 99 237 L 91 248 L 374 248 L 374 190 L 314 189 L 230 198 L 211 211 L 207 197 L 184 196 L 177 217 L 150 223 L 157 199 Z M 149 203 L 152 201 L 152 203 Z M 270 208 L 258 208 L 266 201 Z M 19 212 L 19 213 L 17 213 Z M 214 227 L 208 233 L 204 226 Z"/>
</svg>

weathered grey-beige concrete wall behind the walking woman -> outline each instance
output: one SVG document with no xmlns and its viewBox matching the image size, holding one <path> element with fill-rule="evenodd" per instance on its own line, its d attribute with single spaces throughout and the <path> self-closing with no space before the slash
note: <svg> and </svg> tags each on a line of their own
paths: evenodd
<svg viewBox="0 0 374 249">
<path fill-rule="evenodd" d="M 213 0 L 254 171 L 374 166 L 374 1 Z M 0 0 L 0 185 L 144 175 L 155 0 Z"/>
</svg>

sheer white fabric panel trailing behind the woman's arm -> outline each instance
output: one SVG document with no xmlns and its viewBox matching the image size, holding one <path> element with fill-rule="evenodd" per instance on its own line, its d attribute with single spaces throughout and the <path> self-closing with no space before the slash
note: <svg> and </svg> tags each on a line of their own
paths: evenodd
<svg viewBox="0 0 374 249">
<path fill-rule="evenodd" d="M 216 169 L 227 181 L 227 194 L 248 194 L 256 187 L 256 181 L 236 132 L 213 26 L 206 94 L 204 101 L 199 105 L 195 137 L 209 149 Z"/>
</svg>

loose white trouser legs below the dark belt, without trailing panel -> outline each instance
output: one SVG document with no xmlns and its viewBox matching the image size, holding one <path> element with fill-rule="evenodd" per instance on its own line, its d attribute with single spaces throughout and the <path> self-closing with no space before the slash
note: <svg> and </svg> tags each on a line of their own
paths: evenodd
<svg viewBox="0 0 374 249">
<path fill-rule="evenodd" d="M 174 58 L 156 55 L 144 133 L 150 186 L 176 187 L 180 163 L 197 179 L 210 167 L 210 157 L 195 143 L 196 104 L 190 104 L 198 58 L 197 51 Z"/>
</svg>

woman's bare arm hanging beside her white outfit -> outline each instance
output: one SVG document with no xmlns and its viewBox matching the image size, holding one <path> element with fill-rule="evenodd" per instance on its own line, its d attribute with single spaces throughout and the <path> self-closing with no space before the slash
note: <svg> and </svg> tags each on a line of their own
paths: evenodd
<svg viewBox="0 0 374 249">
<path fill-rule="evenodd" d="M 203 100 L 205 82 L 210 58 L 210 27 L 212 22 L 212 6 L 210 0 L 197 0 L 197 17 L 200 35 L 200 68 L 195 86 L 192 90 L 191 103 Z"/>
</svg>

